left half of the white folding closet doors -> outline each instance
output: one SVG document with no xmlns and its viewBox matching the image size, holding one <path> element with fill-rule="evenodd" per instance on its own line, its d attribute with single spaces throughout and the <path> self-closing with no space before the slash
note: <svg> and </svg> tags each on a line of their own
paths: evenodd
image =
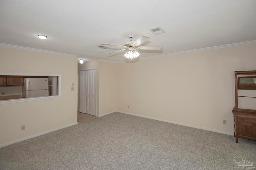
<svg viewBox="0 0 256 170">
<path fill-rule="evenodd" d="M 81 113 L 86 113 L 85 77 L 85 71 L 78 72 L 78 111 Z"/>
</svg>

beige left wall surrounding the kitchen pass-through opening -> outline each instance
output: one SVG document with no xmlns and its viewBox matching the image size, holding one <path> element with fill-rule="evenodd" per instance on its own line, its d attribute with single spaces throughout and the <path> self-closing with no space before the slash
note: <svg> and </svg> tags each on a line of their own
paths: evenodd
<svg viewBox="0 0 256 170">
<path fill-rule="evenodd" d="M 77 122 L 77 57 L 10 47 L 0 51 L 0 72 L 61 74 L 62 78 L 60 98 L 0 104 L 0 145 Z"/>
</svg>

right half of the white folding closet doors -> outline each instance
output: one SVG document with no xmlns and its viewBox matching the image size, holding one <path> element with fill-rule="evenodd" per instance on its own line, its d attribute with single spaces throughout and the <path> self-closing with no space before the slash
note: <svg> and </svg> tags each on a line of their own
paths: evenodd
<svg viewBox="0 0 256 170">
<path fill-rule="evenodd" d="M 96 76 L 95 70 L 86 72 L 86 113 L 96 116 Z"/>
</svg>

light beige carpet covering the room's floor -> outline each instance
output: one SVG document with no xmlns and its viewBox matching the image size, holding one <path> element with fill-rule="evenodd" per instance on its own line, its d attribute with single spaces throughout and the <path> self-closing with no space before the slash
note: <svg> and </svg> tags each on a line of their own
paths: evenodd
<svg viewBox="0 0 256 170">
<path fill-rule="evenodd" d="M 240 170 L 255 151 L 256 141 L 116 112 L 3 147 L 0 169 Z"/>
</svg>

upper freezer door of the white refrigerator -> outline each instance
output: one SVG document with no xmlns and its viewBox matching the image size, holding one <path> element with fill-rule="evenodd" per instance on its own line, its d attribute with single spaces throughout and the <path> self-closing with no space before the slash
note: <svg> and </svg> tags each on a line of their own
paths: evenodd
<svg viewBox="0 0 256 170">
<path fill-rule="evenodd" d="M 48 90 L 48 78 L 26 78 L 26 90 Z"/>
</svg>

